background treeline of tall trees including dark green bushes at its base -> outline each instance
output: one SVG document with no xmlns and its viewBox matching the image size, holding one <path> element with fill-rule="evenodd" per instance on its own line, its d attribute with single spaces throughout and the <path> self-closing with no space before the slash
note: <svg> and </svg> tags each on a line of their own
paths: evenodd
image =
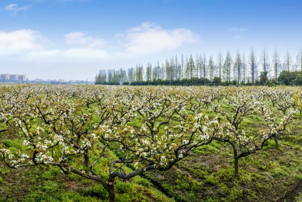
<svg viewBox="0 0 302 202">
<path fill-rule="evenodd" d="M 277 50 L 272 59 L 263 49 L 257 60 L 253 49 L 249 55 L 239 51 L 225 58 L 219 52 L 214 59 L 204 54 L 177 55 L 160 64 L 160 61 L 137 64 L 135 68 L 100 70 L 96 84 L 110 85 L 302 85 L 302 49 L 295 61 L 287 50 L 280 60 Z"/>
</svg>

